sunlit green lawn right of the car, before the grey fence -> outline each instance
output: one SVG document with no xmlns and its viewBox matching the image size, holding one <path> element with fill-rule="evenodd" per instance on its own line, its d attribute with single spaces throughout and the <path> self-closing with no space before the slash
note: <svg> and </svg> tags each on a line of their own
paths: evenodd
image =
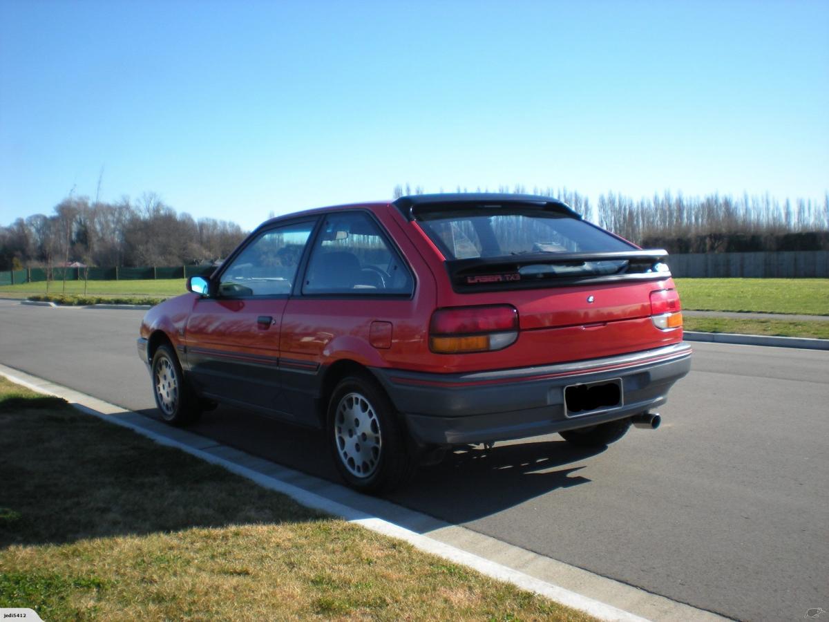
<svg viewBox="0 0 829 622">
<path fill-rule="evenodd" d="M 829 315 L 829 279 L 674 279 L 682 309 Z"/>
</svg>

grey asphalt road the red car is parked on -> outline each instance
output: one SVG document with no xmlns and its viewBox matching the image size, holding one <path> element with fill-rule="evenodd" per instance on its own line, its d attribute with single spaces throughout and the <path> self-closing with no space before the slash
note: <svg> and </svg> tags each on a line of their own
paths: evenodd
<svg viewBox="0 0 829 622">
<path fill-rule="evenodd" d="M 153 416 L 142 312 L 0 300 L 0 362 Z M 397 503 L 740 620 L 829 610 L 829 352 L 694 344 L 657 431 L 557 435 L 422 469 Z M 230 409 L 196 431 L 336 479 L 318 435 Z"/>
</svg>

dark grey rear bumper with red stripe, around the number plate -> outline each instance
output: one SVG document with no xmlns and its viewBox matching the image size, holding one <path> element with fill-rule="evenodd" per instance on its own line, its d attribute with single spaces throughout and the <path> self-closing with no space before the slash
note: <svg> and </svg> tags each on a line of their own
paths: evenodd
<svg viewBox="0 0 829 622">
<path fill-rule="evenodd" d="M 497 372 L 434 374 L 373 368 L 422 444 L 520 439 L 623 419 L 662 406 L 691 369 L 685 343 L 616 357 Z M 620 406 L 565 414 L 565 386 L 622 380 Z"/>
</svg>

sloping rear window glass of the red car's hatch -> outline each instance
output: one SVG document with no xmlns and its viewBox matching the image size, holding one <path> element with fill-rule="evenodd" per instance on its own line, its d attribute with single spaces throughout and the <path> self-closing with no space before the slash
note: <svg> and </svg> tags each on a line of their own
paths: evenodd
<svg viewBox="0 0 829 622">
<path fill-rule="evenodd" d="M 636 248 L 588 222 L 537 209 L 429 211 L 419 223 L 447 260 Z"/>
</svg>

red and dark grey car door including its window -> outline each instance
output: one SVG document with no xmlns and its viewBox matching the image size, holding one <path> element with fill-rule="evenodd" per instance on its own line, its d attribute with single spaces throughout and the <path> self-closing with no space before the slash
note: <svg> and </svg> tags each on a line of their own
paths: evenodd
<svg viewBox="0 0 829 622">
<path fill-rule="evenodd" d="M 315 220 L 252 237 L 196 301 L 185 343 L 190 377 L 206 396 L 289 416 L 279 382 L 279 331 Z"/>
</svg>

